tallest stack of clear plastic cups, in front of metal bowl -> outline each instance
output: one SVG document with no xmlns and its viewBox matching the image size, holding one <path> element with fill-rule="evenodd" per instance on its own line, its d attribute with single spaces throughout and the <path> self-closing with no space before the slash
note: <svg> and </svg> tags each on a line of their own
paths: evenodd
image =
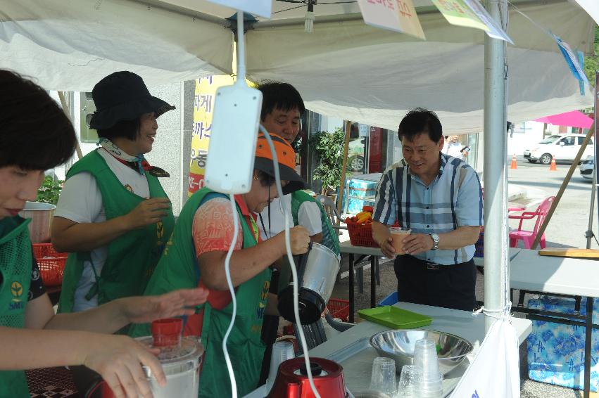
<svg viewBox="0 0 599 398">
<path fill-rule="evenodd" d="M 420 383 L 417 383 L 418 397 L 441 398 L 443 375 L 439 372 L 439 359 L 433 341 L 417 340 L 414 348 L 414 366 L 422 371 Z"/>
</svg>

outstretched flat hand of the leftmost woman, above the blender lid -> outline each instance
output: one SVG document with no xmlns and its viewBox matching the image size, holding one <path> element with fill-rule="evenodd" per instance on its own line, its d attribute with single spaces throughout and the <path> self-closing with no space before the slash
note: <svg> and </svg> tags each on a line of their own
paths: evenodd
<svg viewBox="0 0 599 398">
<path fill-rule="evenodd" d="M 194 314 L 194 306 L 206 302 L 208 290 L 182 289 L 159 296 L 120 299 L 128 323 L 147 323 L 155 319 Z"/>
</svg>

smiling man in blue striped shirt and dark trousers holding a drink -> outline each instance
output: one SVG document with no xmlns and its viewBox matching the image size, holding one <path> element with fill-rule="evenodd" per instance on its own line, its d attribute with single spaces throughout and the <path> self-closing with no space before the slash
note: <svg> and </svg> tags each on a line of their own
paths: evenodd
<svg viewBox="0 0 599 398">
<path fill-rule="evenodd" d="M 398 129 L 403 160 L 377 187 L 372 233 L 395 257 L 389 227 L 412 229 L 394 268 L 404 302 L 472 311 L 476 307 L 474 243 L 483 224 L 481 184 L 465 162 L 441 153 L 443 129 L 435 113 L 417 108 Z"/>
</svg>

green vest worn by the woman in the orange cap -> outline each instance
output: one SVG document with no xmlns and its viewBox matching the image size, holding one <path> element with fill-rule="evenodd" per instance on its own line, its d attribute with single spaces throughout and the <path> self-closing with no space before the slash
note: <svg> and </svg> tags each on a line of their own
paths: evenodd
<svg viewBox="0 0 599 398">
<path fill-rule="evenodd" d="M 175 289 L 194 288 L 198 285 L 200 275 L 191 238 L 191 226 L 194 214 L 203 198 L 211 192 L 208 188 L 202 188 L 191 195 L 185 203 L 177 219 L 175 232 L 172 233 L 163 257 L 146 288 L 146 295 L 158 295 Z M 256 238 L 239 208 L 238 213 L 243 230 L 243 248 L 251 248 L 256 245 Z M 255 225 L 252 227 L 257 230 Z M 265 349 L 260 340 L 260 331 L 269 287 L 269 268 L 237 287 L 235 295 L 237 316 L 227 340 L 227 349 L 233 364 L 239 397 L 258 387 Z M 230 397 L 231 385 L 222 352 L 222 339 L 231 321 L 233 304 L 229 303 L 222 310 L 213 309 L 208 303 L 200 307 L 204 309 L 201 340 L 206 348 L 206 354 L 203 358 L 198 397 Z M 130 331 L 133 337 L 149 334 L 148 324 L 134 325 Z"/>
</svg>

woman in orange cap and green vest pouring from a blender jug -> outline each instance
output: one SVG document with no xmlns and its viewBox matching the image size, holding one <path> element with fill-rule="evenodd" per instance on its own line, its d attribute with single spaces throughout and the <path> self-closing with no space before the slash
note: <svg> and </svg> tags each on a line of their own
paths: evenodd
<svg viewBox="0 0 599 398">
<path fill-rule="evenodd" d="M 272 134 L 277 151 L 282 184 L 286 190 L 303 187 L 295 172 L 295 153 L 284 139 Z M 256 214 L 273 198 L 272 154 L 262 134 L 256 144 L 256 160 L 251 191 L 236 195 L 239 214 L 239 238 L 230 261 L 231 278 L 236 290 L 237 316 L 227 340 L 233 364 L 237 392 L 243 397 L 258 387 L 260 365 L 265 346 L 260 332 L 265 314 L 277 314 L 277 296 L 268 293 L 270 264 L 286 255 L 284 232 L 260 240 Z M 152 275 L 146 294 L 155 295 L 198 284 L 210 289 L 208 302 L 197 316 L 187 319 L 186 333 L 201 335 L 206 355 L 200 375 L 199 397 L 230 397 L 231 385 L 222 340 L 231 321 L 233 304 L 225 278 L 225 256 L 233 238 L 233 210 L 226 195 L 202 188 L 184 205 L 175 232 Z M 310 236 L 303 226 L 290 230 L 294 255 L 308 250 Z M 132 335 L 149 334 L 135 326 Z"/>
</svg>

